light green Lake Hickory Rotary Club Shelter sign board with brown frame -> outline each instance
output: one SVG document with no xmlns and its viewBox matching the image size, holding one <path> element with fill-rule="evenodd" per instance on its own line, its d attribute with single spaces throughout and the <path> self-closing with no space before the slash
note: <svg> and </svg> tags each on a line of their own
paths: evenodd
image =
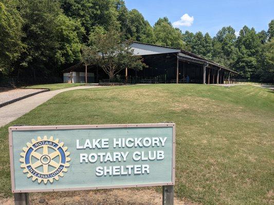
<svg viewBox="0 0 274 205">
<path fill-rule="evenodd" d="M 175 124 L 10 127 L 12 192 L 174 185 Z"/>
</svg>

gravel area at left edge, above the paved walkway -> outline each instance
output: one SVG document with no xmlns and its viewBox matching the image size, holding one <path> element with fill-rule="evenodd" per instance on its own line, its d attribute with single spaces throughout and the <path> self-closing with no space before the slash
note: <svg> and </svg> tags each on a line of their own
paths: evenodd
<svg viewBox="0 0 274 205">
<path fill-rule="evenodd" d="M 16 98 L 24 97 L 26 95 L 38 93 L 45 89 L 18 89 L 0 87 L 0 104 L 6 103 Z"/>
</svg>

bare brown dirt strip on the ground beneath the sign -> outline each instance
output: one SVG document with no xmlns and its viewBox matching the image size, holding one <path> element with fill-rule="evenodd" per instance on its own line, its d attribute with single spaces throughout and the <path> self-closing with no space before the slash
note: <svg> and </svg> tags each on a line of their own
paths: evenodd
<svg viewBox="0 0 274 205">
<path fill-rule="evenodd" d="M 14 204 L 12 198 L 0 199 L 0 204 Z M 115 189 L 100 191 L 75 191 L 30 194 L 29 204 L 79 204 L 79 205 L 160 205 L 162 204 L 161 193 L 153 189 Z M 176 205 L 195 205 L 196 203 L 174 199 Z"/>
</svg>

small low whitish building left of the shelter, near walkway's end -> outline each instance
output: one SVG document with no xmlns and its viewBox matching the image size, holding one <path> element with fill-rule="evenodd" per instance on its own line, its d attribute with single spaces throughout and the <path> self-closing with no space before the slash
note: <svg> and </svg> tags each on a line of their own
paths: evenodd
<svg viewBox="0 0 274 205">
<path fill-rule="evenodd" d="M 64 83 L 85 83 L 84 72 L 63 73 Z M 94 73 L 87 73 L 87 83 L 94 83 Z"/>
</svg>

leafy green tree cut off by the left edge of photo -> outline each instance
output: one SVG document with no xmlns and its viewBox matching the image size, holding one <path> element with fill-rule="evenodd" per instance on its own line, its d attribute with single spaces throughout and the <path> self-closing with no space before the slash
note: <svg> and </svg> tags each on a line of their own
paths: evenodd
<svg viewBox="0 0 274 205">
<path fill-rule="evenodd" d="M 24 50 L 21 39 L 23 19 L 16 1 L 0 2 L 0 72 L 11 72 L 11 65 Z"/>
</svg>

